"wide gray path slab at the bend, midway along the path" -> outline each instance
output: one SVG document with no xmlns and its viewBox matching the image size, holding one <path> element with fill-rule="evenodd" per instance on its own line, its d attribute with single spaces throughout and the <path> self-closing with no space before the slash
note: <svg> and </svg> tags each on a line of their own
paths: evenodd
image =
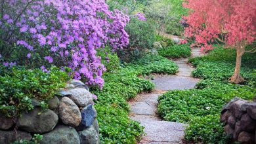
<svg viewBox="0 0 256 144">
<path fill-rule="evenodd" d="M 152 82 L 156 84 L 157 90 L 184 90 L 194 88 L 199 79 L 181 77 L 175 75 L 165 75 L 156 77 Z"/>
</svg>

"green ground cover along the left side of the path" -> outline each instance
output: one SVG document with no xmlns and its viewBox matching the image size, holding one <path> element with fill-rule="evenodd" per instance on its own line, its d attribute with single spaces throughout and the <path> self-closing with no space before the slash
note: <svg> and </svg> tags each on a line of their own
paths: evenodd
<svg viewBox="0 0 256 144">
<path fill-rule="evenodd" d="M 122 65 L 115 73 L 104 73 L 105 84 L 102 90 L 95 88 L 91 91 L 98 96 L 95 108 L 98 112 L 100 142 L 136 143 L 143 129 L 138 122 L 129 119 L 127 99 L 154 88 L 152 82 L 138 76 L 150 73 L 173 74 L 177 69 L 177 65 L 166 58 L 149 55 Z"/>
</svg>

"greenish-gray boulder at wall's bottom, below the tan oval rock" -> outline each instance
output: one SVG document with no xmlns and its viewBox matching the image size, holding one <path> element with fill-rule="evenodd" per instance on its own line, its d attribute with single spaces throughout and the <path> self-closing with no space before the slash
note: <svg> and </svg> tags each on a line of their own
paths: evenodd
<svg viewBox="0 0 256 144">
<path fill-rule="evenodd" d="M 79 144 L 79 135 L 71 126 L 58 125 L 52 132 L 43 134 L 41 144 Z"/>
</svg>

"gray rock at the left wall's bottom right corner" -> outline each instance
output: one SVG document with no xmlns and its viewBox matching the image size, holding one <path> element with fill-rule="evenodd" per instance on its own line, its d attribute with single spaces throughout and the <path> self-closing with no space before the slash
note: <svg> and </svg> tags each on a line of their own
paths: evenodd
<svg viewBox="0 0 256 144">
<path fill-rule="evenodd" d="M 93 126 L 90 126 L 89 128 L 78 132 L 78 135 L 80 137 L 81 144 L 98 144 L 99 136 L 98 132 L 93 128 Z"/>
</svg>

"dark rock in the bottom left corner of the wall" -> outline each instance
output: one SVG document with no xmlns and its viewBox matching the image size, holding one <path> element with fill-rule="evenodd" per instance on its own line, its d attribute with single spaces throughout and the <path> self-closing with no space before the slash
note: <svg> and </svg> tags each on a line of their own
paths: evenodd
<svg viewBox="0 0 256 144">
<path fill-rule="evenodd" d="M 1 144 L 9 144 L 13 143 L 14 141 L 20 141 L 22 139 L 26 139 L 30 141 L 32 139 L 32 135 L 28 132 L 22 131 L 3 131 L 0 130 L 0 143 Z"/>
</svg>

